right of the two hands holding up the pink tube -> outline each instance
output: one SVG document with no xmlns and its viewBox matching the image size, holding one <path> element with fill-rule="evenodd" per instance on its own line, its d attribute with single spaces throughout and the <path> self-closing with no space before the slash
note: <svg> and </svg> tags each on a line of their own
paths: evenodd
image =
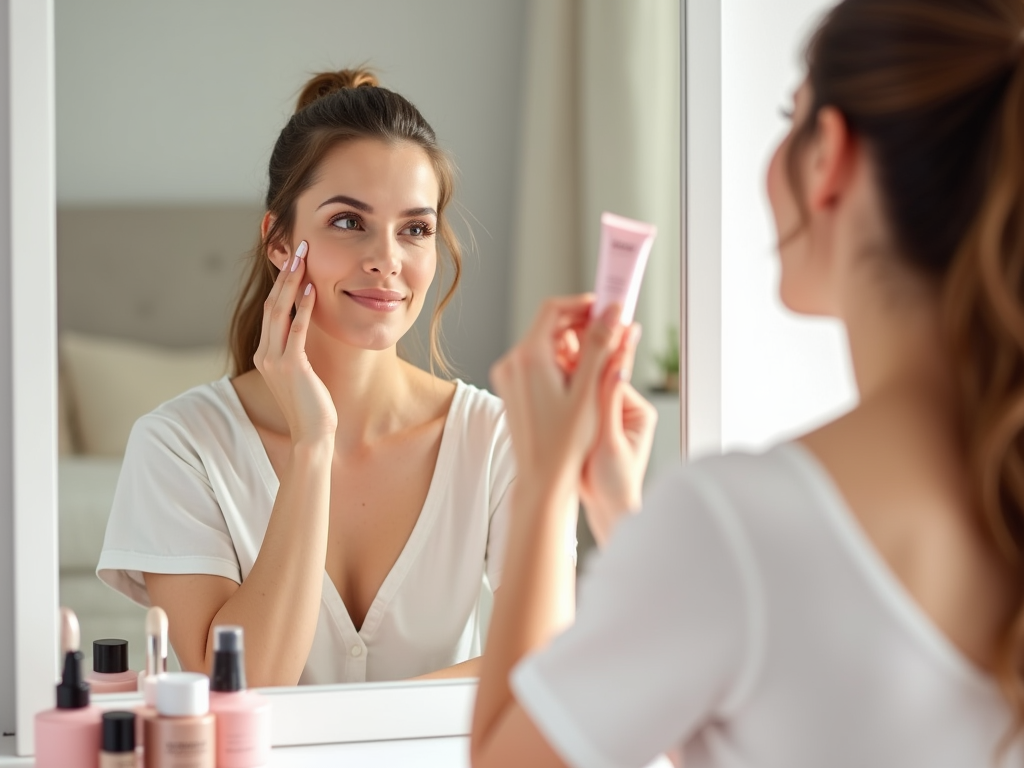
<svg viewBox="0 0 1024 768">
<path fill-rule="evenodd" d="M 650 459 L 657 412 L 629 383 L 640 327 L 623 334 L 605 367 L 599 395 L 597 439 L 583 466 L 580 498 L 587 523 L 604 545 L 624 514 L 640 509 L 643 477 Z"/>
</svg>

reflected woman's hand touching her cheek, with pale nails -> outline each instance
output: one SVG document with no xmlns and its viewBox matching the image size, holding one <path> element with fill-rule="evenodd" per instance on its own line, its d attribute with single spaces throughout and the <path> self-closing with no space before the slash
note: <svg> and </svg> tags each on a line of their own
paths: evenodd
<svg viewBox="0 0 1024 768">
<path fill-rule="evenodd" d="M 306 331 L 316 300 L 316 290 L 311 283 L 306 284 L 301 296 L 299 293 L 308 248 L 302 241 L 295 256 L 282 265 L 263 304 L 263 329 L 253 356 L 253 362 L 285 415 L 293 444 L 333 439 L 338 428 L 338 412 L 331 392 L 306 357 Z M 292 307 L 295 307 L 294 318 Z"/>
</svg>

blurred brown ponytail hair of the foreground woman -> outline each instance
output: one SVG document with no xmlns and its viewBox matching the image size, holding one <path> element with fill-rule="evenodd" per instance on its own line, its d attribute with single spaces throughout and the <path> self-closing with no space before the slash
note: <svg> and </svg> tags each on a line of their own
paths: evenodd
<svg viewBox="0 0 1024 768">
<path fill-rule="evenodd" d="M 807 49 L 813 105 L 788 176 L 837 109 L 874 160 L 901 254 L 943 289 L 972 490 L 1024 565 L 1024 2 L 845 0 Z M 996 675 L 1024 723 L 1024 603 Z"/>
</svg>

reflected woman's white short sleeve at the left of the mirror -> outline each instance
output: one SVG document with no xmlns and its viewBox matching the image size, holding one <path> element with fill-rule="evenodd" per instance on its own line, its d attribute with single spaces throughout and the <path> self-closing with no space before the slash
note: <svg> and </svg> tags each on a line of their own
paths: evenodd
<svg viewBox="0 0 1024 768">
<path fill-rule="evenodd" d="M 96 567 L 102 582 L 148 606 L 145 572 L 242 583 L 207 468 L 184 427 L 159 414 L 132 428 Z"/>
</svg>

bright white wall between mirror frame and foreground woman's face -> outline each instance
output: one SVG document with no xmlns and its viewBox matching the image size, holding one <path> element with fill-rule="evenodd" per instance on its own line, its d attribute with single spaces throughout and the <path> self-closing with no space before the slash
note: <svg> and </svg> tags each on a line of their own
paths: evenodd
<svg viewBox="0 0 1024 768">
<path fill-rule="evenodd" d="M 829 0 L 722 0 L 722 446 L 758 447 L 848 409 L 838 324 L 796 317 L 776 293 L 764 191 L 803 44 Z"/>
</svg>

